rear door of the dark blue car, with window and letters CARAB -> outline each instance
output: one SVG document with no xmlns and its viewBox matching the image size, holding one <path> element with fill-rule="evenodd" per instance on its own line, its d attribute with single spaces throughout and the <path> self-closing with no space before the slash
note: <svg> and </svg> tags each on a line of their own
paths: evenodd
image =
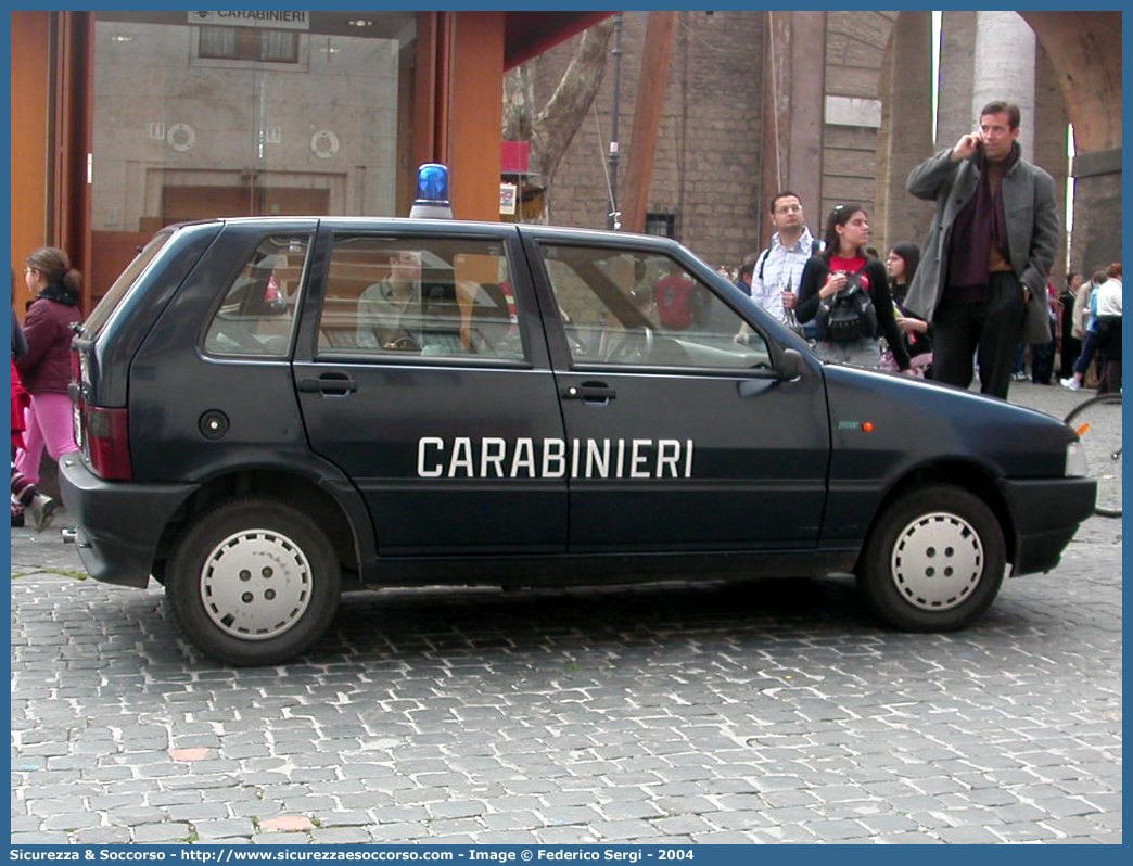
<svg viewBox="0 0 1133 866">
<path fill-rule="evenodd" d="M 340 221 L 320 244 L 296 391 L 378 553 L 562 552 L 565 477 L 540 462 L 562 417 L 516 230 Z"/>
</svg>

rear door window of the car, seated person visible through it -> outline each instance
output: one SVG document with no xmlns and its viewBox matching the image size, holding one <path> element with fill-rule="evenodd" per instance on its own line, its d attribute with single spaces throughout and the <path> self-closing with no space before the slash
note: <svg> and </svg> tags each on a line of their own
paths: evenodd
<svg viewBox="0 0 1133 866">
<path fill-rule="evenodd" d="M 318 350 L 523 359 L 503 243 L 335 236 Z"/>
</svg>

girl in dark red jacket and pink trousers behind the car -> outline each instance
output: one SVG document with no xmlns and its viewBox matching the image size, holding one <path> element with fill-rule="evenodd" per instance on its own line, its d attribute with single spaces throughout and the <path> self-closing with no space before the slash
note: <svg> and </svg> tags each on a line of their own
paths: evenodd
<svg viewBox="0 0 1133 866">
<path fill-rule="evenodd" d="M 16 453 L 16 468 L 37 484 L 44 449 L 52 460 L 78 450 L 67 385 L 71 379 L 71 325 L 83 317 L 78 309 L 83 283 L 61 249 L 41 247 L 26 264 L 24 279 L 35 300 L 24 319 L 27 354 L 16 366 L 32 405 L 25 415 L 24 448 Z"/>
</svg>

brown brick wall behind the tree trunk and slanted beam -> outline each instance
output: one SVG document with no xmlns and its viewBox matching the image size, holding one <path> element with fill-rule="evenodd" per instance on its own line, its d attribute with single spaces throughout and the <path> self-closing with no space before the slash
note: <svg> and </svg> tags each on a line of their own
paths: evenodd
<svg viewBox="0 0 1133 866">
<path fill-rule="evenodd" d="M 758 245 L 763 18 L 756 11 L 687 11 L 678 18 L 648 210 L 675 213 L 679 239 L 714 265 L 739 264 Z M 646 12 L 625 12 L 619 112 L 621 193 L 646 23 Z M 572 40 L 544 56 L 538 104 L 561 77 L 574 45 Z M 611 59 L 596 100 L 597 121 L 591 112 L 552 179 L 551 220 L 555 223 L 606 226 L 612 104 Z"/>
</svg>

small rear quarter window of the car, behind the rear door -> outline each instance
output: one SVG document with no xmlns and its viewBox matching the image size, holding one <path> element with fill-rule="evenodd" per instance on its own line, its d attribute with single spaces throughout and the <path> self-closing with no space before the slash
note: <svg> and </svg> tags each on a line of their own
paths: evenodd
<svg viewBox="0 0 1133 866">
<path fill-rule="evenodd" d="M 205 351 L 287 356 L 309 249 L 308 235 L 272 235 L 259 241 L 208 323 Z"/>
</svg>

